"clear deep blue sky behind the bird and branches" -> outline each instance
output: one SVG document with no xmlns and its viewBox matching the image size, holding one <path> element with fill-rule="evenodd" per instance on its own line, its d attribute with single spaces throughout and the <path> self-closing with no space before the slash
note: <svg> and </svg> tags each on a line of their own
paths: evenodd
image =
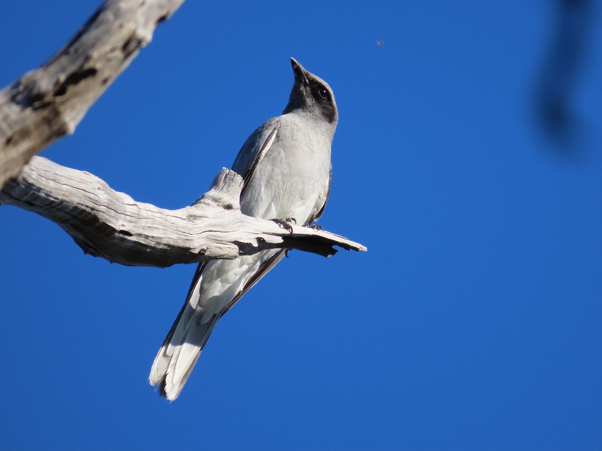
<svg viewBox="0 0 602 451">
<path fill-rule="evenodd" d="M 3 5 L 0 85 L 97 5 Z M 0 207 L 0 448 L 600 449 L 600 5 L 590 16 L 559 147 L 533 117 L 547 2 L 185 2 L 42 155 L 185 206 L 284 109 L 294 57 L 340 111 L 320 224 L 368 252 L 291 253 L 169 403 L 146 378 L 194 265 L 111 265 Z"/>
</svg>

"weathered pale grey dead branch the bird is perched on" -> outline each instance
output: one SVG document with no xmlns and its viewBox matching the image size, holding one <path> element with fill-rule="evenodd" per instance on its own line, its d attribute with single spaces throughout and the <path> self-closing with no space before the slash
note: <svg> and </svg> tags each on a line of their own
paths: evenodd
<svg viewBox="0 0 602 451">
<path fill-rule="evenodd" d="M 166 267 L 209 259 L 235 259 L 268 248 L 294 248 L 323 256 L 337 245 L 365 251 L 342 236 L 245 216 L 238 200 L 243 179 L 224 168 L 192 206 L 165 210 L 134 201 L 98 177 L 34 156 L 20 180 L 0 191 L 0 203 L 39 213 L 60 225 L 85 253 L 110 262 Z"/>
</svg>

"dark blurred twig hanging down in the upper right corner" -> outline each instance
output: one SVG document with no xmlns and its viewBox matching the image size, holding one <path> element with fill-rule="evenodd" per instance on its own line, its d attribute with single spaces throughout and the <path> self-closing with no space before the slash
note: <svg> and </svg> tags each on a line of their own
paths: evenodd
<svg viewBox="0 0 602 451">
<path fill-rule="evenodd" d="M 586 53 L 592 0 L 556 0 L 556 25 L 536 87 L 536 115 L 545 135 L 558 144 L 574 133 L 571 99 Z"/>
</svg>

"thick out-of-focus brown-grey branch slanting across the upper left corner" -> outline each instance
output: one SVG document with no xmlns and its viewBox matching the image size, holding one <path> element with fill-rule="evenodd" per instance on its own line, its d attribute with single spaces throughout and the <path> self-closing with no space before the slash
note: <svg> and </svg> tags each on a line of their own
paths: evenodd
<svg viewBox="0 0 602 451">
<path fill-rule="evenodd" d="M 0 188 L 31 156 L 73 133 L 183 1 L 108 0 L 51 60 L 0 91 Z"/>
</svg>

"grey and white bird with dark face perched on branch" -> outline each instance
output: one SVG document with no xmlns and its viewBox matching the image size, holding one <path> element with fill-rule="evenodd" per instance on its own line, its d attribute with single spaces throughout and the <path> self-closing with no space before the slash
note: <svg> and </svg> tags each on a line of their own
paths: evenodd
<svg viewBox="0 0 602 451">
<path fill-rule="evenodd" d="M 330 192 L 330 149 L 338 123 L 330 86 L 291 58 L 294 84 L 282 115 L 265 121 L 238 152 L 232 170 L 243 177 L 244 215 L 281 227 L 309 226 L 324 212 Z M 209 335 L 253 285 L 285 256 L 285 249 L 199 264 L 178 318 L 155 357 L 149 382 L 175 400 Z"/>
</svg>

